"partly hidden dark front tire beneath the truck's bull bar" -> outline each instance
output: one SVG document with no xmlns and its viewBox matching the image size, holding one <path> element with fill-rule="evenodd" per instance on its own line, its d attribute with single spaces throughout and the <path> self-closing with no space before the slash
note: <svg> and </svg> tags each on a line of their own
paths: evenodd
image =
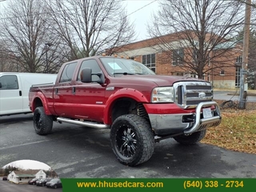
<svg viewBox="0 0 256 192">
<path fill-rule="evenodd" d="M 176 140 L 176 142 L 179 142 L 182 145 L 193 145 L 197 142 L 200 142 L 205 137 L 205 135 L 206 135 L 206 130 L 201 130 L 190 135 L 185 135 L 185 134 L 178 135 L 174 137 L 174 139 Z"/>
</svg>

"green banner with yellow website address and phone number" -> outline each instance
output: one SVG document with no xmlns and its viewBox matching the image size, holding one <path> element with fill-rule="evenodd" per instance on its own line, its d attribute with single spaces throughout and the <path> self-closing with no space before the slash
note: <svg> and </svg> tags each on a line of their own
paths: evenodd
<svg viewBox="0 0 256 192">
<path fill-rule="evenodd" d="M 242 191 L 253 192 L 256 178 L 62 178 L 63 192 L 76 191 Z"/>
</svg>

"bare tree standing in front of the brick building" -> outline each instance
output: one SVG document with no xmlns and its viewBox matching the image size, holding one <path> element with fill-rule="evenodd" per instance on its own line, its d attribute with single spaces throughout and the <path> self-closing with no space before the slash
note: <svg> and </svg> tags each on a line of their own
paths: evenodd
<svg viewBox="0 0 256 192">
<path fill-rule="evenodd" d="M 235 31 L 244 22 L 243 3 L 223 0 L 162 0 L 160 10 L 153 15 L 148 26 L 151 37 L 158 41 L 158 50 L 165 51 L 168 58 L 182 60 L 179 67 L 202 78 L 214 69 L 230 67 L 230 42 Z M 165 34 L 176 33 L 177 39 Z M 178 50 L 184 52 L 180 54 Z M 220 57 L 226 54 L 226 60 Z M 237 53 L 236 53 L 237 54 Z M 209 63 L 211 66 L 209 67 Z M 234 66 L 234 63 L 233 63 Z M 219 71 L 219 70 L 218 70 Z"/>
</svg>

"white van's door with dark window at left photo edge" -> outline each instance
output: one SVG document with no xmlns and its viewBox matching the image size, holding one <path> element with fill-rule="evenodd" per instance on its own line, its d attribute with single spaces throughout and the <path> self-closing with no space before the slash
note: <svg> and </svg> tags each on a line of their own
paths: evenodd
<svg viewBox="0 0 256 192">
<path fill-rule="evenodd" d="M 16 74 L 3 74 L 0 77 L 0 115 L 18 114 L 23 111 L 22 84 Z"/>
</svg>

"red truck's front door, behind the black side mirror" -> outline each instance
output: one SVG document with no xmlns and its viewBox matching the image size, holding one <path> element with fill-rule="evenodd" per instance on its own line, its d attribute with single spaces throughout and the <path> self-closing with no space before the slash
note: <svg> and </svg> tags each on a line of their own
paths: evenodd
<svg viewBox="0 0 256 192">
<path fill-rule="evenodd" d="M 74 82 L 74 118 L 82 118 L 97 122 L 103 122 L 103 110 L 106 104 L 105 84 L 95 82 L 99 79 L 97 75 L 92 76 L 93 82 L 81 82 L 80 74 L 84 68 L 92 69 L 93 74 L 101 72 L 101 68 L 95 59 L 82 62 L 77 81 Z"/>
</svg>

